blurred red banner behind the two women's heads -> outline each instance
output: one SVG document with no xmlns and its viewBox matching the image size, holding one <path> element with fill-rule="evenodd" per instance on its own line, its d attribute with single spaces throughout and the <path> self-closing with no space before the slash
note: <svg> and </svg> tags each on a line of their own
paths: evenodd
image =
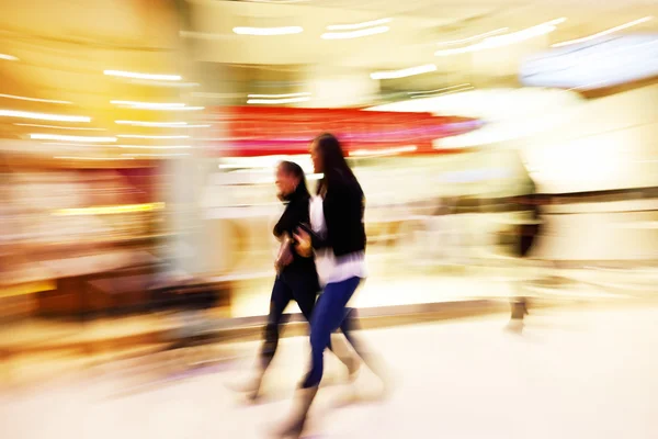
<svg viewBox="0 0 658 439">
<path fill-rule="evenodd" d="M 432 140 L 468 133 L 477 120 L 359 109 L 234 106 L 208 113 L 209 146 L 228 157 L 308 153 L 320 133 L 337 135 L 349 155 L 436 154 Z"/>
</svg>

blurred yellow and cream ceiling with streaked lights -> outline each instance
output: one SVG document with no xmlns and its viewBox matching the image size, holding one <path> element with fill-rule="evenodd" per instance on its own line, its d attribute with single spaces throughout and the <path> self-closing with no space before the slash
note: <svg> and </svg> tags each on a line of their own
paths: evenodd
<svg viewBox="0 0 658 439">
<path fill-rule="evenodd" d="M 384 81 L 383 88 L 431 88 L 464 82 L 477 87 L 514 86 L 518 64 L 524 56 L 555 42 L 593 34 L 650 14 L 658 15 L 658 0 L 4 1 L 0 2 L 0 54 L 19 60 L 0 58 L 0 93 L 73 104 L 53 109 L 49 104 L 0 99 L 0 109 L 81 113 L 91 116 L 94 126 L 116 132 L 113 121 L 117 119 L 171 120 L 179 115 L 120 111 L 110 105 L 110 100 L 193 99 L 188 93 L 191 90 L 230 93 L 235 89 L 242 93 L 249 88 L 232 86 L 241 77 L 247 81 L 303 83 L 316 76 L 337 72 L 370 80 L 370 72 L 375 70 L 434 64 L 436 71 L 432 74 L 399 83 Z M 519 31 L 560 16 L 567 21 L 545 37 L 477 55 L 434 56 L 440 42 L 500 27 Z M 332 24 L 383 18 L 393 19 L 387 24 L 389 32 L 356 40 L 320 37 Z M 302 26 L 304 31 L 280 36 L 232 32 L 235 26 L 290 25 Z M 658 32 L 658 19 L 631 31 Z M 207 69 L 211 63 L 232 67 L 211 74 Z M 266 74 L 253 74 L 254 68 Z M 183 82 L 200 82 L 200 86 L 146 87 L 104 76 L 105 69 L 177 74 L 183 76 Z M 251 72 L 242 75 L 240 69 Z M 223 71 L 232 82 L 212 77 Z M 224 87 L 218 86 L 222 83 Z M 281 86 L 284 92 L 285 87 Z M 25 133 L 0 120 L 1 137 L 24 137 Z"/>
</svg>

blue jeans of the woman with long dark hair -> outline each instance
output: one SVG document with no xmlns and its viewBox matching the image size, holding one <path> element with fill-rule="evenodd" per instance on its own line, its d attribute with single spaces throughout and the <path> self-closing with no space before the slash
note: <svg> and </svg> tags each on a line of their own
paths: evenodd
<svg viewBox="0 0 658 439">
<path fill-rule="evenodd" d="M 361 278 L 329 283 L 325 286 L 325 292 L 320 294 L 310 317 L 311 365 L 302 387 L 315 387 L 320 384 L 325 369 L 325 349 L 331 341 L 331 334 L 338 328 L 341 328 L 348 341 L 359 353 L 360 349 L 356 348 L 351 334 L 355 319 L 352 309 L 347 305 L 360 283 Z"/>
</svg>

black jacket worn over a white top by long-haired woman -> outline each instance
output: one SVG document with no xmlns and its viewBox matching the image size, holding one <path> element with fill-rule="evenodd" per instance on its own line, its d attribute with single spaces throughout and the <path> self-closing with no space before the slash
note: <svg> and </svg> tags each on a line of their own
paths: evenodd
<svg viewBox="0 0 658 439">
<path fill-rule="evenodd" d="M 311 234 L 313 247 L 330 247 L 336 257 L 365 250 L 365 225 L 363 213 L 365 198 L 359 181 L 344 176 L 327 185 L 322 202 L 327 235 L 322 238 Z"/>
</svg>

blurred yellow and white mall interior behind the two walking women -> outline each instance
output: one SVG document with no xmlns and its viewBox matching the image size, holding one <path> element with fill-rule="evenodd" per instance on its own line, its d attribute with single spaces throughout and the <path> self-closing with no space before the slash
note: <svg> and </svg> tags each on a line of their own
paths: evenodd
<svg viewBox="0 0 658 439">
<path fill-rule="evenodd" d="M 367 199 L 364 326 L 649 306 L 657 79 L 654 0 L 0 1 L 5 384 L 258 337 L 274 169 L 314 187 L 322 132 Z"/>
</svg>

